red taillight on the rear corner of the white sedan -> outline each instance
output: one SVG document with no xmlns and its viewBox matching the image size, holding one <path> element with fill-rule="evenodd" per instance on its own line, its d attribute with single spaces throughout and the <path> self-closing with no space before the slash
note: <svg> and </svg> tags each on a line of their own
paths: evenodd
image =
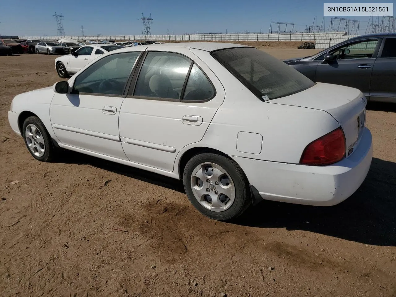
<svg viewBox="0 0 396 297">
<path fill-rule="evenodd" d="M 333 164 L 345 157 L 345 150 L 345 135 L 340 127 L 307 145 L 301 156 L 300 164 Z"/>
</svg>

